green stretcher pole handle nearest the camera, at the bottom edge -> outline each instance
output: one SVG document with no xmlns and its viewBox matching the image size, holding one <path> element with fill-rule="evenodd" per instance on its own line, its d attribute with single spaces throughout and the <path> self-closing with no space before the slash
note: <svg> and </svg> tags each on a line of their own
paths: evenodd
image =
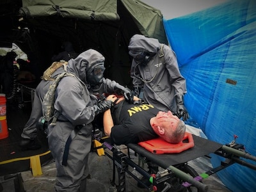
<svg viewBox="0 0 256 192">
<path fill-rule="evenodd" d="M 174 166 L 169 166 L 168 167 L 177 177 L 179 177 L 182 180 L 185 180 L 189 182 L 190 184 L 193 184 L 196 188 L 200 189 L 200 191 L 208 191 L 208 186 L 205 184 L 202 184 L 202 182 L 199 182 L 195 180 L 193 177 L 188 175 L 185 172 L 182 172 L 178 168 L 175 168 Z"/>
</svg>

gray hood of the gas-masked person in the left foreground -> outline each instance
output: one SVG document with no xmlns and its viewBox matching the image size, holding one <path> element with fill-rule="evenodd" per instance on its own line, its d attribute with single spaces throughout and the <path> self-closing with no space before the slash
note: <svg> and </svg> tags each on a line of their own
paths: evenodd
<svg viewBox="0 0 256 192">
<path fill-rule="evenodd" d="M 87 70 L 91 70 L 92 67 L 99 65 L 100 63 L 104 63 L 105 58 L 98 51 L 94 49 L 88 49 L 87 51 L 82 52 L 77 56 L 76 59 L 71 59 L 68 61 L 67 70 L 68 72 L 72 72 L 79 79 L 81 79 L 84 83 L 86 82 L 86 74 Z"/>
</svg>

